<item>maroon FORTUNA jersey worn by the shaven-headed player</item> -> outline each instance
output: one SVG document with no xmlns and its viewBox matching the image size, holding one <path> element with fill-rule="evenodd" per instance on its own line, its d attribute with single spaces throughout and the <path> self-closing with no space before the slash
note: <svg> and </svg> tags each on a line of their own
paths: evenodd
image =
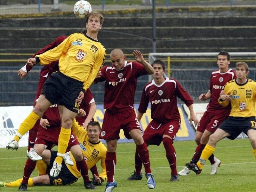
<svg viewBox="0 0 256 192">
<path fill-rule="evenodd" d="M 124 68 L 118 71 L 113 66 L 100 70 L 102 75 L 94 83 L 106 81 L 104 108 L 113 113 L 133 108 L 137 77 L 148 75 L 143 65 L 125 61 Z"/>
</svg>

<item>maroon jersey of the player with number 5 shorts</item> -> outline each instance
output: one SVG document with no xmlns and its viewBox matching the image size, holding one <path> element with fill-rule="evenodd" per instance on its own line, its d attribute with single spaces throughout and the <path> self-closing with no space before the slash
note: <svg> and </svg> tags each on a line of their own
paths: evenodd
<svg viewBox="0 0 256 192">
<path fill-rule="evenodd" d="M 220 70 L 212 72 L 209 91 L 212 92 L 211 100 L 207 106 L 207 111 L 214 114 L 229 115 L 231 106 L 223 107 L 219 104 L 218 99 L 220 92 L 224 89 L 224 85 L 236 78 L 236 72 L 228 69 L 225 73 L 220 73 Z"/>
</svg>

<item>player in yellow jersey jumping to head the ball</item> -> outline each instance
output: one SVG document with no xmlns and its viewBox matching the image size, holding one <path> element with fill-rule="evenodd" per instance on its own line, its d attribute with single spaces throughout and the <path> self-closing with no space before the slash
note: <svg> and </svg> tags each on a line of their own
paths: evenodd
<svg viewBox="0 0 256 192">
<path fill-rule="evenodd" d="M 18 149 L 20 138 L 35 125 L 47 108 L 58 103 L 62 122 L 58 156 L 50 172 L 53 177 L 60 173 L 62 158 L 70 138 L 72 121 L 79 104 L 105 61 L 106 49 L 97 38 L 102 23 L 103 16 L 92 12 L 86 18 L 85 34 L 71 34 L 57 47 L 28 59 L 30 66 L 36 63 L 45 65 L 59 60 L 60 71 L 52 73 L 45 81 L 35 108 L 20 124 L 13 140 L 6 145 L 6 148 Z"/>
</svg>

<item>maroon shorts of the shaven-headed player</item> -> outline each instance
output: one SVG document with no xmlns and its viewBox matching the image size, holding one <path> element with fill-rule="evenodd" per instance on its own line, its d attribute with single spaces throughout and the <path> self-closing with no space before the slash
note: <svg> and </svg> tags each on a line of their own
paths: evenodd
<svg viewBox="0 0 256 192">
<path fill-rule="evenodd" d="M 140 123 L 135 115 L 134 109 L 127 109 L 121 112 L 112 113 L 105 111 L 100 139 L 114 140 L 119 139 L 120 130 L 124 130 L 127 139 L 132 139 L 129 132 L 133 129 L 140 129 Z"/>
</svg>

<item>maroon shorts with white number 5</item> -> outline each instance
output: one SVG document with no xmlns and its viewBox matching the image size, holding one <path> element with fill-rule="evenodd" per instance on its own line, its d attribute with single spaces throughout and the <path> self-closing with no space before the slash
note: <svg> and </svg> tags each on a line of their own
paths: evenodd
<svg viewBox="0 0 256 192">
<path fill-rule="evenodd" d="M 227 118 L 228 116 L 225 116 L 223 114 L 215 114 L 205 111 L 199 122 L 200 125 L 197 127 L 196 131 L 202 133 L 204 132 L 204 130 L 215 132 L 220 124 L 222 124 Z"/>
</svg>

